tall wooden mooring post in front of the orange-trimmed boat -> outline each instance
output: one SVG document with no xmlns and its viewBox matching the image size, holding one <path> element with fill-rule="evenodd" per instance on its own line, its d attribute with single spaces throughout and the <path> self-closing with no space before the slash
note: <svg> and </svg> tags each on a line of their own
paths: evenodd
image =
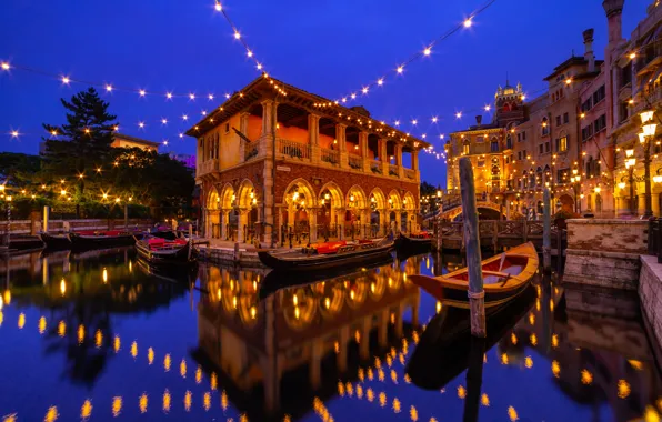
<svg viewBox="0 0 662 422">
<path fill-rule="evenodd" d="M 468 157 L 460 159 L 460 191 L 462 194 L 462 217 L 464 245 L 467 248 L 467 268 L 469 270 L 469 312 L 471 334 L 479 338 L 487 335 L 485 292 L 483 290 L 483 270 L 481 268 L 481 245 L 475 207 L 475 187 L 473 169 Z"/>
</svg>

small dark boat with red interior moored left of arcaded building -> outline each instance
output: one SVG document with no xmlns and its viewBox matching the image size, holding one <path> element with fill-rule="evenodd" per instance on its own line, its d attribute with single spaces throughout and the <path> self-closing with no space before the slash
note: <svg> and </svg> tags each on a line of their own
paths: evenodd
<svg viewBox="0 0 662 422">
<path fill-rule="evenodd" d="M 183 239 L 172 241 L 147 237 L 136 241 L 138 255 L 153 265 L 179 264 L 187 265 L 195 262 L 197 251 Z"/>
</svg>

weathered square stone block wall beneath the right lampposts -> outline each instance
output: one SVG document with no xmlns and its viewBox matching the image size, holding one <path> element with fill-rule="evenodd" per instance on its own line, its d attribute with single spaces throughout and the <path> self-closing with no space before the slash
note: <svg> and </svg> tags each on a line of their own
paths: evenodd
<svg viewBox="0 0 662 422">
<path fill-rule="evenodd" d="M 648 224 L 641 220 L 568 220 L 563 281 L 636 290 Z"/>
</svg>

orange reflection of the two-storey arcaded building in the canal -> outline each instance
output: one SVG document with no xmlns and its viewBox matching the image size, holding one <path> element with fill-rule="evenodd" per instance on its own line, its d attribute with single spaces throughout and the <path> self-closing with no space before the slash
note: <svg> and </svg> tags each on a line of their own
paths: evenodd
<svg viewBox="0 0 662 422">
<path fill-rule="evenodd" d="M 339 376 L 418 325 L 420 291 L 407 275 L 422 260 L 284 288 L 262 301 L 264 272 L 201 269 L 209 294 L 199 304 L 199 359 L 230 381 L 232 402 L 250 420 L 301 415 L 314 396 L 337 392 Z"/>
</svg>

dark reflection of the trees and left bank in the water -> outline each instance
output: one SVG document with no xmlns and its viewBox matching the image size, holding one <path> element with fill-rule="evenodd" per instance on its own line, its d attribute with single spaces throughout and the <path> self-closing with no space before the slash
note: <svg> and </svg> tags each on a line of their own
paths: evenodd
<svg viewBox="0 0 662 422">
<path fill-rule="evenodd" d="M 89 386 L 120 348 L 113 315 L 150 313 L 188 291 L 182 274 L 154 273 L 132 249 L 10 257 L 0 274 L 6 299 L 46 313 L 38 322 L 46 355 L 63 355 L 62 375 Z"/>
</svg>

